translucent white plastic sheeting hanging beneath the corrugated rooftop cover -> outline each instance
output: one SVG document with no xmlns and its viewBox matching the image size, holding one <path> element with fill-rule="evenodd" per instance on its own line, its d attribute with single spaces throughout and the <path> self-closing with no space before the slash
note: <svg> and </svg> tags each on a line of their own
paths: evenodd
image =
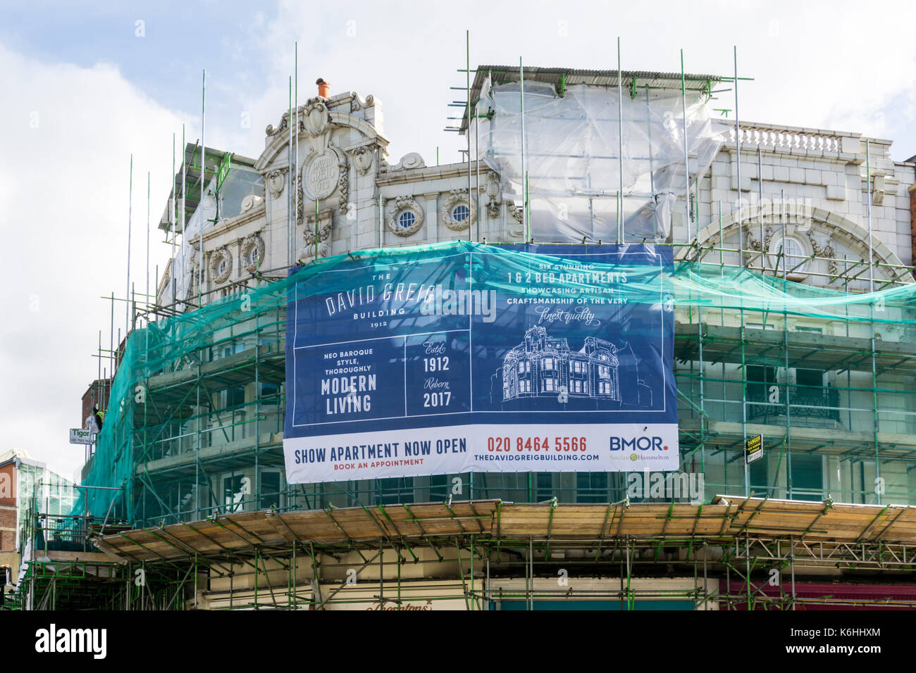
<svg viewBox="0 0 916 673">
<path fill-rule="evenodd" d="M 672 207 L 687 190 L 681 92 L 642 88 L 631 96 L 624 87 L 622 200 L 616 88 L 574 85 L 559 96 L 552 84 L 526 81 L 524 93 L 524 167 L 519 82 L 485 84 L 477 114 L 493 112 L 479 118 L 481 158 L 500 175 L 504 201 L 519 209 L 527 169 L 529 236 L 616 243 L 622 201 L 625 242 L 668 239 Z M 705 98 L 686 96 L 691 183 L 725 139 L 725 125 L 712 118 Z"/>
</svg>

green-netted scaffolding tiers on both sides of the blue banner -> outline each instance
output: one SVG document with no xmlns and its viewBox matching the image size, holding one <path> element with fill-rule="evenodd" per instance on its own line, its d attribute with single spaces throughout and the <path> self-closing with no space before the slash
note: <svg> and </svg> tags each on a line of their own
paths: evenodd
<svg viewBox="0 0 916 673">
<path fill-rule="evenodd" d="M 455 245 L 476 244 L 438 250 Z M 555 249 L 562 255 L 562 245 Z M 678 263 L 673 283 L 682 471 L 703 475 L 703 497 L 916 501 L 916 286 L 842 293 L 690 260 Z M 627 473 L 603 472 L 285 483 L 290 287 L 259 277 L 198 311 L 163 317 L 148 309 L 158 320 L 125 345 L 127 371 L 122 364 L 112 388 L 120 407 L 109 410 L 100 440 L 107 454 L 93 457 L 86 482 L 124 488 L 125 496 L 93 491 L 86 513 L 158 525 L 270 506 L 627 497 Z M 765 459 L 747 467 L 745 441 L 758 434 Z"/>
</svg>

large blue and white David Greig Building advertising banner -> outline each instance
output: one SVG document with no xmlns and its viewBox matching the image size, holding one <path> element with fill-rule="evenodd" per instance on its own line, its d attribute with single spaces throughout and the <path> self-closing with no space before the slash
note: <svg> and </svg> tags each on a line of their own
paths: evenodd
<svg viewBox="0 0 916 673">
<path fill-rule="evenodd" d="M 678 468 L 670 248 L 402 250 L 294 272 L 289 483 Z"/>
</svg>

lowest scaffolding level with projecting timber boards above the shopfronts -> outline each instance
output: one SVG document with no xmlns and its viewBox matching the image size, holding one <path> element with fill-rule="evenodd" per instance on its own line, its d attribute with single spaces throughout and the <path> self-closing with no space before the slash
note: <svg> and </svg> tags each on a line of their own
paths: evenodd
<svg viewBox="0 0 916 673">
<path fill-rule="evenodd" d="M 209 516 L 112 532 L 108 560 L 33 563 L 33 609 L 912 609 L 916 508 L 718 496 L 711 503 L 462 501 Z M 98 556 L 98 555 L 97 555 Z M 840 570 L 829 591 L 801 578 Z M 777 581 L 774 581 L 774 577 Z M 558 581 L 559 579 L 559 581 Z M 94 594 L 94 598 L 93 598 Z M 419 606 L 419 607 L 418 607 Z"/>
</svg>

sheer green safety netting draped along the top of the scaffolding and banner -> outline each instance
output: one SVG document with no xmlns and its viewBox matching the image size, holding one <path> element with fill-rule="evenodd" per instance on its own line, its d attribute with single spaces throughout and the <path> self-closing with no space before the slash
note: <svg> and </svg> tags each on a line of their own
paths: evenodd
<svg viewBox="0 0 916 673">
<path fill-rule="evenodd" d="M 581 246 L 578 246 L 582 250 Z M 605 246 L 604 252 L 608 247 Z M 595 250 L 600 249 L 594 246 Z M 490 255 L 485 269 L 474 265 L 474 255 Z M 97 440 L 93 462 L 83 484 L 120 488 L 120 491 L 81 489 L 72 514 L 110 516 L 130 520 L 130 475 L 136 461 L 134 430 L 142 423 L 138 396 L 149 376 L 178 372 L 200 363 L 202 350 L 229 342 L 235 330 L 271 325 L 281 336 L 290 292 L 299 298 L 343 290 L 349 287 L 348 270 L 371 266 L 390 272 L 403 265 L 414 271 L 428 265 L 430 273 L 445 256 L 464 255 L 467 277 L 475 289 L 506 289 L 521 275 L 537 294 L 538 284 L 529 276 L 545 262 L 563 265 L 563 245 L 517 246 L 475 244 L 465 241 L 398 248 L 364 250 L 324 258 L 280 280 L 260 280 L 259 287 L 243 288 L 200 309 L 150 322 L 131 331 L 125 353 L 117 368 L 104 428 Z M 549 259 L 545 259 L 548 257 Z M 551 297 L 576 297 L 596 288 L 599 272 L 625 273 L 628 301 L 673 302 L 681 309 L 746 311 L 768 316 L 785 314 L 812 319 L 844 320 L 866 325 L 892 323 L 903 331 L 901 341 L 916 341 L 916 284 L 887 288 L 872 293 L 847 293 L 815 288 L 734 266 L 698 262 L 675 262 L 671 273 L 657 267 L 594 264 L 592 273 L 562 278 L 562 288 L 552 288 Z M 328 273 L 333 272 L 333 273 Z M 515 289 L 514 291 L 518 291 Z M 690 320 L 697 320 L 691 316 Z M 703 320 L 702 316 L 700 320 Z M 753 321 L 745 316 L 746 321 Z"/>
</svg>

